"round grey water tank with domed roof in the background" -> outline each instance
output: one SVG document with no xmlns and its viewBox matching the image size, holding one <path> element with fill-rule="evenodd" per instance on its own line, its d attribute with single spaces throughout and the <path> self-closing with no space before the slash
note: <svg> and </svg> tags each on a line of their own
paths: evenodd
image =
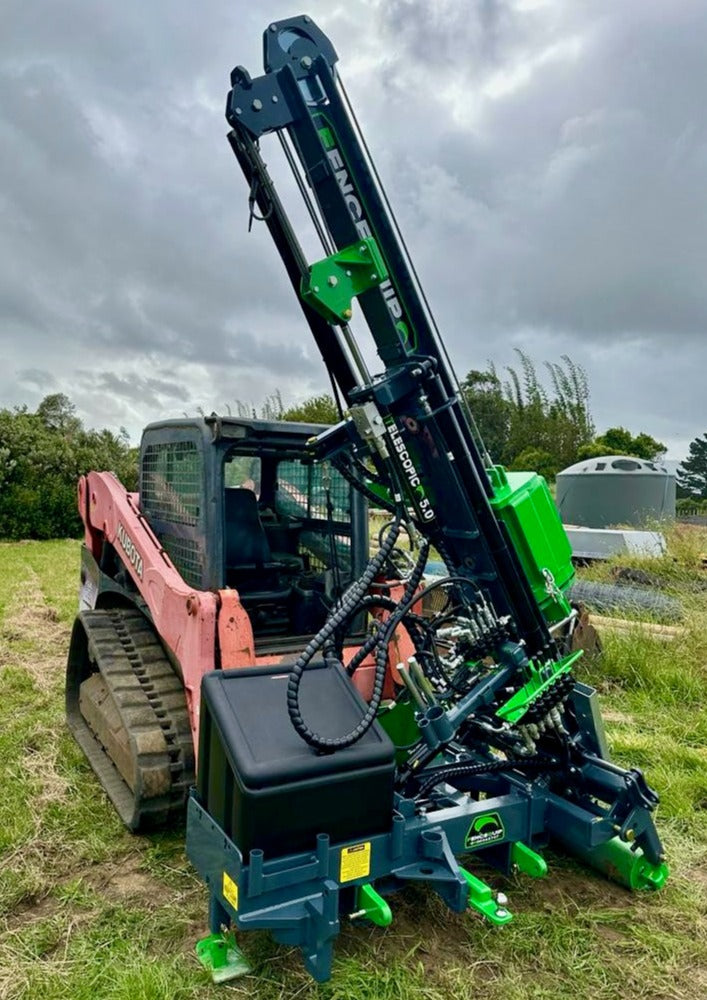
<svg viewBox="0 0 707 1000">
<path fill-rule="evenodd" d="M 675 517 L 675 476 L 642 458 L 589 458 L 559 473 L 555 502 L 564 524 L 640 528 L 656 518 Z"/>
</svg>

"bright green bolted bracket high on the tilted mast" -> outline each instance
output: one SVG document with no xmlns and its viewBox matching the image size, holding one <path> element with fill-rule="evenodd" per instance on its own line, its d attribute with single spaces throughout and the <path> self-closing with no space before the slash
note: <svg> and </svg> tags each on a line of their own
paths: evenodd
<svg viewBox="0 0 707 1000">
<path fill-rule="evenodd" d="M 312 264 L 308 277 L 302 279 L 300 293 L 327 323 L 348 323 L 354 296 L 375 288 L 387 277 L 378 244 L 367 236 Z"/>
</svg>

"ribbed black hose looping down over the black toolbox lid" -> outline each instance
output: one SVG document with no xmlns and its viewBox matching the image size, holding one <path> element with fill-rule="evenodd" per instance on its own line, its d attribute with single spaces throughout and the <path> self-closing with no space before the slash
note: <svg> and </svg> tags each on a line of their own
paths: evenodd
<svg viewBox="0 0 707 1000">
<path fill-rule="evenodd" d="M 354 583 L 352 583 L 347 591 L 342 595 L 341 600 L 334 607 L 334 610 L 329 618 L 326 620 L 324 625 L 322 625 L 317 634 L 309 641 L 290 671 L 290 677 L 287 682 L 287 710 L 290 716 L 290 721 L 301 739 L 303 739 L 305 743 L 309 744 L 309 746 L 314 747 L 316 750 L 331 753 L 334 750 L 343 750 L 345 747 L 352 746 L 370 729 L 378 712 L 378 706 L 383 695 L 383 684 L 385 682 L 385 658 L 383 658 L 383 669 L 380 670 L 378 657 L 376 657 L 376 673 L 373 682 L 373 696 L 371 698 L 371 702 L 358 725 L 355 726 L 350 733 L 346 733 L 345 736 L 332 738 L 324 737 L 309 728 L 307 723 L 302 718 L 302 712 L 300 711 L 299 686 L 302 681 L 302 674 L 304 673 L 307 665 L 311 662 L 312 657 L 316 653 L 320 652 L 320 650 L 328 644 L 337 629 L 340 628 L 340 626 L 352 614 L 357 612 L 361 599 L 365 596 L 366 591 L 373 583 L 376 576 L 380 573 L 390 556 L 390 553 L 393 551 L 393 547 L 398 539 L 398 535 L 400 534 L 402 518 L 402 511 L 398 511 L 378 552 L 370 560 L 368 566 L 366 566 L 359 579 L 354 581 Z M 420 576 L 422 576 L 422 572 L 420 573 Z M 391 615 L 391 618 L 392 617 L 393 616 Z M 381 630 L 379 630 L 379 633 L 380 631 Z"/>
</svg>

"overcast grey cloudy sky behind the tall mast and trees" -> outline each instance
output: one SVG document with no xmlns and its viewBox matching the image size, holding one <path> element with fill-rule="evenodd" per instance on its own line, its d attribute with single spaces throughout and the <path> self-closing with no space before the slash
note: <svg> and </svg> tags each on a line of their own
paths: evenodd
<svg viewBox="0 0 707 1000">
<path fill-rule="evenodd" d="M 0 406 L 159 416 L 327 387 L 225 139 L 292 0 L 3 0 Z M 453 362 L 589 374 L 599 430 L 707 429 L 703 0 L 310 0 Z M 263 150 L 283 193 L 277 143 Z M 272 155 L 272 162 L 271 157 Z M 299 216 L 298 216 L 299 217 Z"/>
</svg>

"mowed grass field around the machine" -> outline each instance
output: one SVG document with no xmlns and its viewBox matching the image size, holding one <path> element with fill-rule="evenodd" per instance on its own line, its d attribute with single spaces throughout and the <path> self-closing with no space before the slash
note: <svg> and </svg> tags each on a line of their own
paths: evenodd
<svg viewBox="0 0 707 1000">
<path fill-rule="evenodd" d="M 702 552 L 707 532 L 678 528 L 648 566 L 684 601 L 682 636 L 605 636 L 603 659 L 579 669 L 601 692 L 615 759 L 642 767 L 661 794 L 672 868 L 663 891 L 632 895 L 548 853 L 544 881 L 482 872 L 509 897 L 505 928 L 411 887 L 392 898 L 387 930 L 343 928 L 329 983 L 253 934 L 242 940 L 253 974 L 213 986 L 193 953 L 207 894 L 183 830 L 125 832 L 65 728 L 79 545 L 0 544 L 0 1000 L 707 997 Z"/>
</svg>

